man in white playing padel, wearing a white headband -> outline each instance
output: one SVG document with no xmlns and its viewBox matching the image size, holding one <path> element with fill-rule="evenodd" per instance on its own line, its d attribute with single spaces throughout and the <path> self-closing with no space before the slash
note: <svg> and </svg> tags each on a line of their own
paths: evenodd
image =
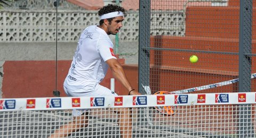
<svg viewBox="0 0 256 138">
<path fill-rule="evenodd" d="M 108 35 L 116 35 L 123 26 L 125 10 L 117 5 L 103 6 L 99 12 L 99 25 L 85 28 L 78 40 L 64 90 L 69 97 L 105 97 L 117 94 L 99 83 L 110 68 L 114 77 L 127 89 L 127 94 L 140 95 L 135 91 L 118 63 L 114 45 Z M 112 109 L 119 115 L 119 128 L 122 137 L 132 137 L 131 113 L 127 108 Z M 88 124 L 86 110 L 74 109 L 74 121 L 63 125 L 50 137 L 64 137 Z"/>
</svg>

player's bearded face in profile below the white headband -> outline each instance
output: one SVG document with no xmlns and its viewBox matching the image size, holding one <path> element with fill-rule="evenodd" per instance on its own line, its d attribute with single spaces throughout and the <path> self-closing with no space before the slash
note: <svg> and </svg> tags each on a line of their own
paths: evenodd
<svg viewBox="0 0 256 138">
<path fill-rule="evenodd" d="M 108 25 L 108 32 L 111 35 L 116 35 L 116 33 L 119 32 L 119 30 L 123 27 L 122 21 L 124 20 L 123 16 L 118 16 L 114 18 L 111 23 Z"/>
</svg>

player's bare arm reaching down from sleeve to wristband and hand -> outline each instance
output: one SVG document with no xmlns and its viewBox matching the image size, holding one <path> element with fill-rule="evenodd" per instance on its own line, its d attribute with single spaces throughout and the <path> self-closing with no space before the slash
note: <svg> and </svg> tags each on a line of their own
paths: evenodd
<svg viewBox="0 0 256 138">
<path fill-rule="evenodd" d="M 128 79 L 124 73 L 124 69 L 123 69 L 122 65 L 117 61 L 117 59 L 114 59 L 114 58 L 108 59 L 106 61 L 106 63 L 108 64 L 114 77 L 119 82 L 121 82 L 124 85 L 124 87 L 127 89 L 127 94 L 129 93 L 129 91 L 134 89 L 134 88 L 132 88 L 130 82 L 128 81 Z M 135 90 L 131 91 L 130 94 L 131 95 L 140 95 L 140 93 Z"/>
</svg>

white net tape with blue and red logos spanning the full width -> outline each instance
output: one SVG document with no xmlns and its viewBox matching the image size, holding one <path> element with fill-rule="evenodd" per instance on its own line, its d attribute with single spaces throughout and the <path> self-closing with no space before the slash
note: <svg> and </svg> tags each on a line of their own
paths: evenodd
<svg viewBox="0 0 256 138">
<path fill-rule="evenodd" d="M 256 92 L 0 99 L 0 111 L 256 103 Z"/>
</svg>

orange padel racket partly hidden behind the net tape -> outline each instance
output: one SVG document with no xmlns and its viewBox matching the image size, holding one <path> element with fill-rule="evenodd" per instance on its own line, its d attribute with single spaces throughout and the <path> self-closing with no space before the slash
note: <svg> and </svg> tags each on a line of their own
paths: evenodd
<svg viewBox="0 0 256 138">
<path fill-rule="evenodd" d="M 154 95 L 158 94 L 174 94 L 167 91 L 157 91 L 153 93 Z M 157 106 L 155 107 L 160 113 L 164 115 L 174 115 L 177 112 L 178 106 Z"/>
</svg>

